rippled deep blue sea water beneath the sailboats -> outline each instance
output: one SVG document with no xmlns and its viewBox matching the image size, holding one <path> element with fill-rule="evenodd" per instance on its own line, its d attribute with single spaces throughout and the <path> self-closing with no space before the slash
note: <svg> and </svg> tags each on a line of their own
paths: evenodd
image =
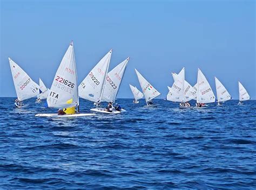
<svg viewBox="0 0 256 190">
<path fill-rule="evenodd" d="M 256 189 L 256 101 L 119 99 L 119 115 L 40 118 L 0 98 L 0 189 Z M 80 112 L 91 103 L 80 101 Z"/>
</svg>

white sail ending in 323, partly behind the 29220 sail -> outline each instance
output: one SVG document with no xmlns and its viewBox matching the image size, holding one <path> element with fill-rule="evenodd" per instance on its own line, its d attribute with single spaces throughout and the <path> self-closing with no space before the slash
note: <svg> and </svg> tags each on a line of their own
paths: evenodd
<svg viewBox="0 0 256 190">
<path fill-rule="evenodd" d="M 125 59 L 119 65 L 114 67 L 109 73 L 107 73 L 102 101 L 113 103 L 116 100 L 128 61 L 129 58 Z"/>
</svg>

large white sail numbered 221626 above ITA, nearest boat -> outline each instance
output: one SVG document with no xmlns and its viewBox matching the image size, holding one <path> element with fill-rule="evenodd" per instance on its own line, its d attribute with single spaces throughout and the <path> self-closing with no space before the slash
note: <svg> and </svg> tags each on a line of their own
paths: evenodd
<svg viewBox="0 0 256 190">
<path fill-rule="evenodd" d="M 53 79 L 47 103 L 49 108 L 78 105 L 77 69 L 72 41 Z"/>
</svg>

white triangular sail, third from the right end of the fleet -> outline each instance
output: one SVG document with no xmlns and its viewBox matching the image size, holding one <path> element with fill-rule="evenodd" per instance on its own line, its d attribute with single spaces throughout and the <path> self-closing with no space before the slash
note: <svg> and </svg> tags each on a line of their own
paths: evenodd
<svg viewBox="0 0 256 190">
<path fill-rule="evenodd" d="M 215 96 L 212 88 L 205 78 L 205 75 L 198 68 L 197 75 L 197 103 L 211 103 L 215 102 Z"/>
</svg>

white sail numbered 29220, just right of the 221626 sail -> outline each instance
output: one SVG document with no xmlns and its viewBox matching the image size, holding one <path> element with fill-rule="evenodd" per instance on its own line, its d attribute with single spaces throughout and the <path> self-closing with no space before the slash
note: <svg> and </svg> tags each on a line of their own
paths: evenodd
<svg viewBox="0 0 256 190">
<path fill-rule="evenodd" d="M 93 67 L 92 71 L 80 83 L 78 87 L 80 97 L 92 102 L 100 102 L 102 100 L 111 54 L 112 50 Z"/>
</svg>

